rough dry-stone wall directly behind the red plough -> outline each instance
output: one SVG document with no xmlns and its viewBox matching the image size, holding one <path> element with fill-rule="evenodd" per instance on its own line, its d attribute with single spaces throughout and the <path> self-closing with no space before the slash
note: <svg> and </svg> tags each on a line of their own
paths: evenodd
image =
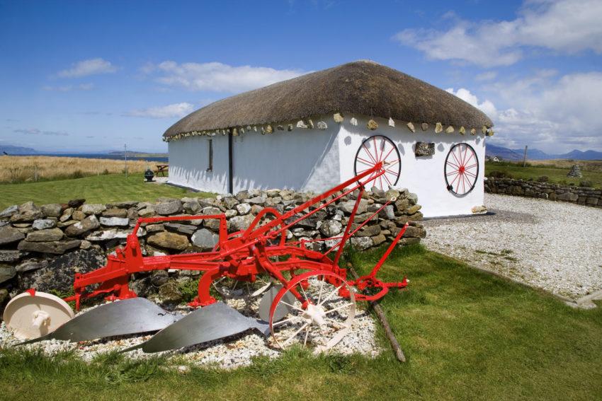
<svg viewBox="0 0 602 401">
<path fill-rule="evenodd" d="M 300 221 L 287 232 L 287 240 L 339 235 L 357 194 L 348 194 L 336 204 Z M 312 196 L 312 193 L 291 190 L 248 190 L 210 199 L 159 198 L 157 202 L 112 204 L 86 204 L 84 199 L 76 199 L 67 204 L 40 207 L 33 202 L 13 205 L 0 211 L 0 310 L 9 296 L 28 288 L 67 294 L 72 289 L 74 273 L 89 272 L 105 265 L 106 254 L 125 244 L 139 217 L 223 213 L 227 216 L 228 231 L 234 232 L 248 228 L 264 207 L 284 213 Z M 351 238 L 351 244 L 357 249 L 366 250 L 387 243 L 407 221 L 422 219 L 416 194 L 404 189 L 385 193 L 373 188 L 364 193 L 353 226 L 357 227 L 382 207 L 387 196 L 397 197 L 396 202 L 385 207 Z M 211 250 L 217 243 L 218 228 L 217 220 L 166 222 L 144 224 L 138 235 L 144 255 L 166 255 Z M 424 227 L 413 223 L 399 244 L 419 243 L 425 236 Z M 334 240 L 307 246 L 324 250 L 332 245 Z M 177 303 L 182 300 L 178 287 L 198 279 L 199 274 L 186 270 L 137 274 L 133 277 L 132 289 L 140 296 L 157 294 L 161 299 Z"/>
</svg>

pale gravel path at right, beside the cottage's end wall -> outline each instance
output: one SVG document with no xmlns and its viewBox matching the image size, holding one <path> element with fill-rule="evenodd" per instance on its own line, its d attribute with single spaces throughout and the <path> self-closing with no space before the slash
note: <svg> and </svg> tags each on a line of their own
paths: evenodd
<svg viewBox="0 0 602 401">
<path fill-rule="evenodd" d="M 424 221 L 431 250 L 569 298 L 602 289 L 602 209 L 485 194 L 494 215 Z"/>
</svg>

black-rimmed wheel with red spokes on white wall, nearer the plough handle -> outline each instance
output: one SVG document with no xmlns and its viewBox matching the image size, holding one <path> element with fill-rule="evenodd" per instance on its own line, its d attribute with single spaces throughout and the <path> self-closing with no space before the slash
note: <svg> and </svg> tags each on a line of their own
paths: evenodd
<svg viewBox="0 0 602 401">
<path fill-rule="evenodd" d="M 356 175 L 361 174 L 373 168 L 379 161 L 382 161 L 385 173 L 374 180 L 374 186 L 381 190 L 387 190 L 389 186 L 397 184 L 399 175 L 402 173 L 402 158 L 399 156 L 399 149 L 387 136 L 370 136 L 362 142 L 356 153 L 353 171 Z"/>
</svg>

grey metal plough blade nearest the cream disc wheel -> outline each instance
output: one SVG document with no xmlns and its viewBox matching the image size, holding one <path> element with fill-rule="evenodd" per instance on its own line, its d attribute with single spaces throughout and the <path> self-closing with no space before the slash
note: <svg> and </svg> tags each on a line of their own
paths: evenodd
<svg viewBox="0 0 602 401">
<path fill-rule="evenodd" d="M 48 335 L 18 345 L 45 339 L 79 342 L 117 335 L 154 332 L 164 329 L 182 317 L 179 313 L 163 310 L 146 298 L 130 298 L 93 308 L 69 320 Z"/>
</svg>

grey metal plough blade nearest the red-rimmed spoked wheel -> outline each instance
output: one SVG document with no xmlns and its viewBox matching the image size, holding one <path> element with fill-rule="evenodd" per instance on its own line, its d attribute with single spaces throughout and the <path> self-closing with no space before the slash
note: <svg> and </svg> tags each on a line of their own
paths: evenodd
<svg viewBox="0 0 602 401">
<path fill-rule="evenodd" d="M 270 332 L 265 322 L 247 318 L 225 303 L 216 302 L 195 310 L 173 325 L 165 327 L 148 341 L 123 352 L 139 348 L 144 352 L 169 351 L 228 337 L 251 328 L 266 336 Z"/>
</svg>

